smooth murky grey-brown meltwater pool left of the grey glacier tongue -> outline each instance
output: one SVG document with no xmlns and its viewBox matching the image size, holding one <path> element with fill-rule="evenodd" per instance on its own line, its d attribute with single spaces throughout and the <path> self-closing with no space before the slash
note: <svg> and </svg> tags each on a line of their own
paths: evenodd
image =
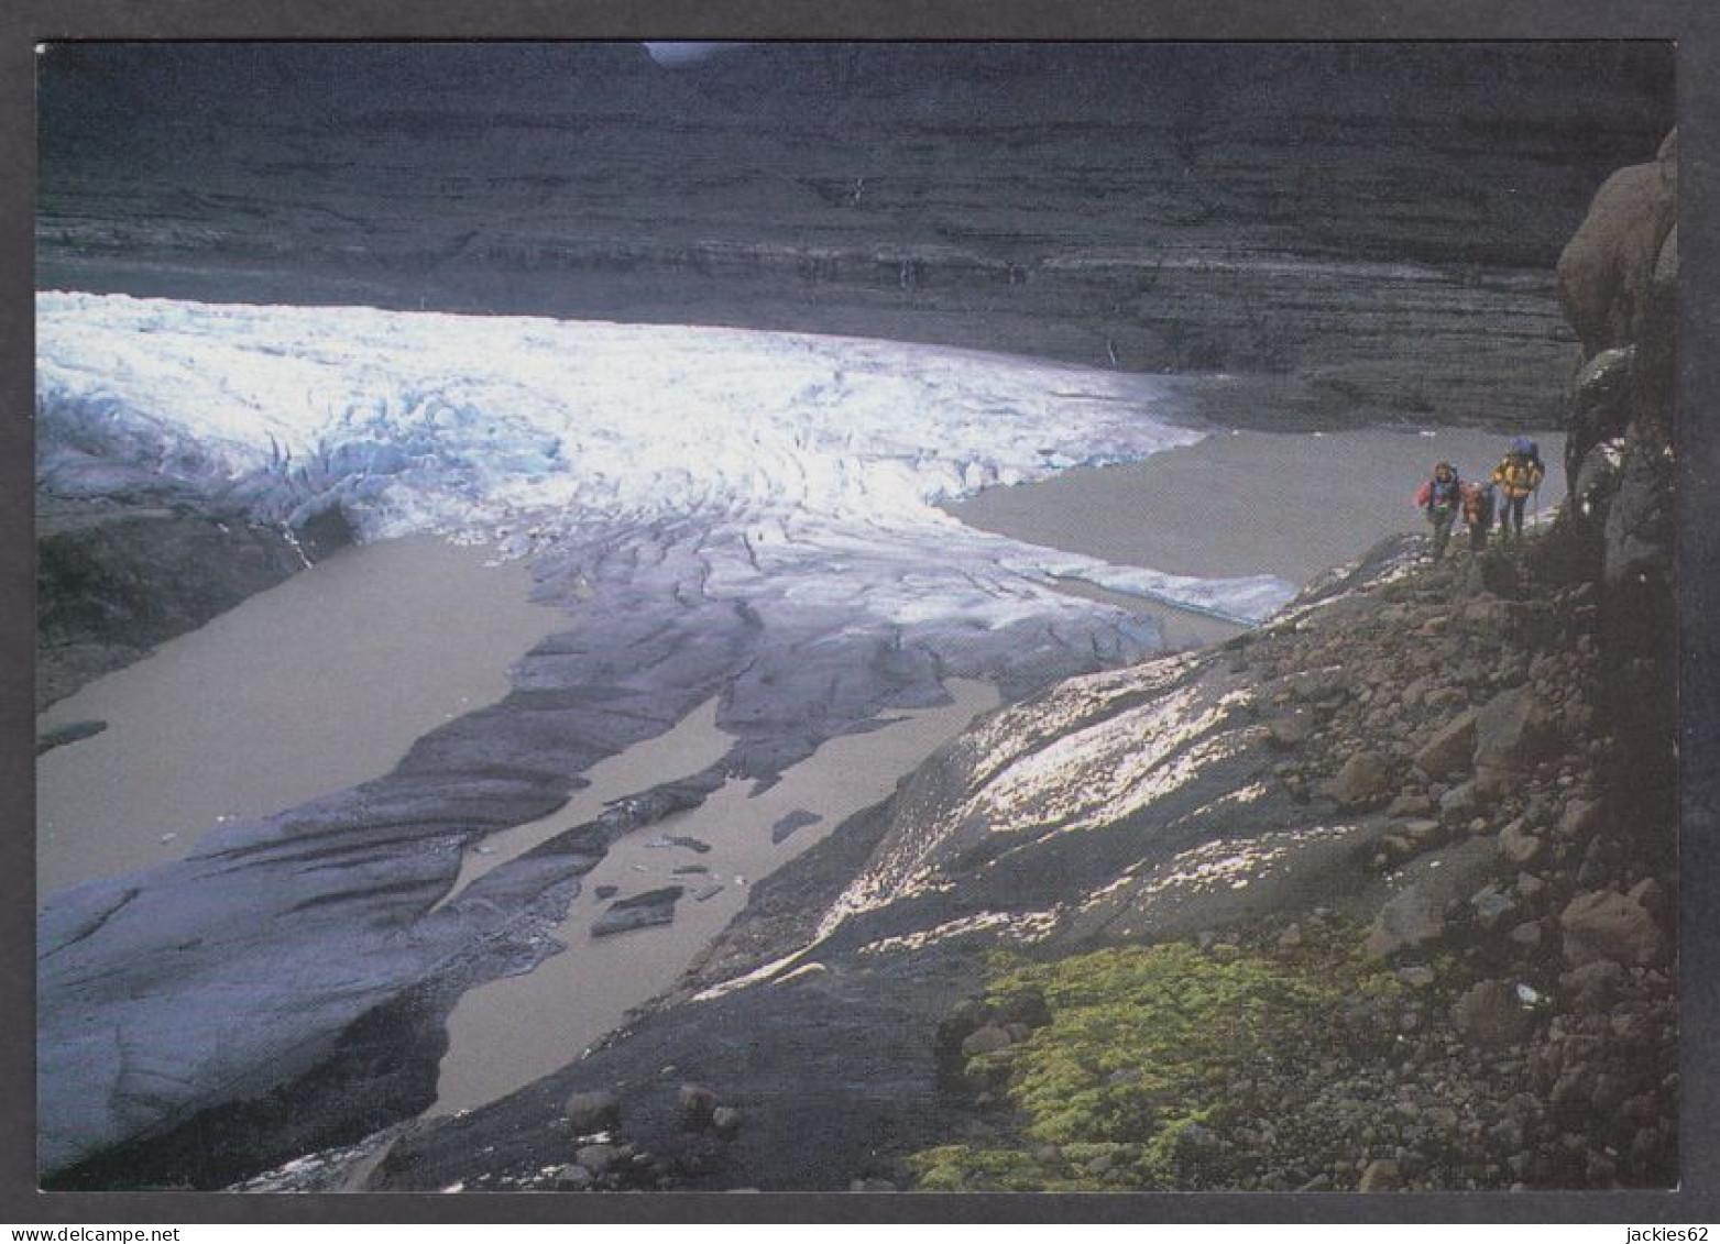
<svg viewBox="0 0 1720 1244">
<path fill-rule="evenodd" d="M 218 823 L 387 773 L 507 692 L 564 625 L 525 564 L 416 538 L 342 550 L 53 704 L 108 729 L 36 763 L 38 897 L 177 859 Z"/>
</svg>

